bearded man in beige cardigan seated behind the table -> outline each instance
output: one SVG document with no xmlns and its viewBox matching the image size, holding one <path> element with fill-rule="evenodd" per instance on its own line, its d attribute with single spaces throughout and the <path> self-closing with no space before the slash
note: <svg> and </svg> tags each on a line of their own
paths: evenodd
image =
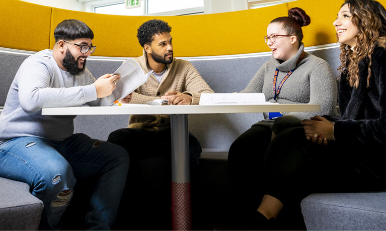
<svg viewBox="0 0 386 231">
<path fill-rule="evenodd" d="M 143 47 L 143 55 L 134 60 L 144 73 L 150 70 L 153 73 L 135 92 L 126 96 L 123 102 L 146 103 L 164 98 L 169 99 L 169 103 L 173 105 L 198 104 L 202 92 L 213 93 L 190 62 L 173 58 L 170 32 L 171 27 L 161 20 L 150 20 L 139 27 L 137 37 Z M 129 127 L 112 132 L 108 141 L 125 148 L 130 156 L 128 181 L 116 228 L 170 230 L 170 117 L 132 115 Z M 195 172 L 201 146 L 190 133 L 189 155 L 191 171 Z M 129 222 L 127 217 L 131 218 Z"/>
</svg>

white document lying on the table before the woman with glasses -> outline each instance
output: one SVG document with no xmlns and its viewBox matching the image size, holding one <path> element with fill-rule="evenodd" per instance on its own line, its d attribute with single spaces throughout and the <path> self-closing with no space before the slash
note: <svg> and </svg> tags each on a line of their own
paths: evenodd
<svg viewBox="0 0 386 231">
<path fill-rule="evenodd" d="M 270 104 L 264 93 L 202 93 L 200 105 Z"/>
</svg>

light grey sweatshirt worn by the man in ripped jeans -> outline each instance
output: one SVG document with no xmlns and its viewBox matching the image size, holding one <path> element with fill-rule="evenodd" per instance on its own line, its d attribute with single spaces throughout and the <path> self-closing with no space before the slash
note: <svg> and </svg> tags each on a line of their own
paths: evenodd
<svg viewBox="0 0 386 231">
<path fill-rule="evenodd" d="M 51 50 L 28 57 L 20 66 L 0 114 L 0 144 L 16 137 L 35 136 L 62 141 L 73 133 L 75 116 L 42 116 L 44 107 L 108 105 L 97 98 L 95 78 L 86 68 L 71 75 L 59 68 Z"/>
</svg>

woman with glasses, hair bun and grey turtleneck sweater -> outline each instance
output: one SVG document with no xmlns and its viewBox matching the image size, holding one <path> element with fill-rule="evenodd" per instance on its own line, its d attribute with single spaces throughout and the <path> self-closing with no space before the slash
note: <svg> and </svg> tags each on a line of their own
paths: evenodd
<svg viewBox="0 0 386 231">
<path fill-rule="evenodd" d="M 335 114 L 337 86 L 329 64 L 304 52 L 301 27 L 311 23 L 300 8 L 288 17 L 271 21 L 264 41 L 272 50 L 271 60 L 263 64 L 244 93 L 263 92 L 266 101 L 276 103 L 320 104 L 318 112 L 270 112 L 231 145 L 228 164 L 236 197 L 236 210 L 256 211 L 261 192 L 264 156 L 268 145 L 283 130 L 300 126 L 316 115 Z"/>
</svg>

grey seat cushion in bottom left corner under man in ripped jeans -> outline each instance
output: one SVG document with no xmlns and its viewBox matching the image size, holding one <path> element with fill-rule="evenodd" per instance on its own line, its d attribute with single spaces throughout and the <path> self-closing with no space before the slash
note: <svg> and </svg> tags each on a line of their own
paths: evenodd
<svg viewBox="0 0 386 231">
<path fill-rule="evenodd" d="M 0 177 L 0 230 L 37 230 L 43 202 L 26 183 Z"/>
</svg>

